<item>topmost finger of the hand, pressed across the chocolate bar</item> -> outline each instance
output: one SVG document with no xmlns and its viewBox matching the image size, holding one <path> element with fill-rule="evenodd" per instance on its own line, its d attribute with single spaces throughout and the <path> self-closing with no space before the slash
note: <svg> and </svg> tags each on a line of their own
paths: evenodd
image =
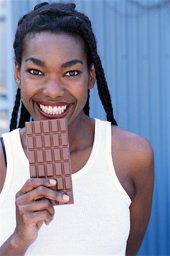
<svg viewBox="0 0 170 256">
<path fill-rule="evenodd" d="M 32 191 L 33 189 L 39 186 L 45 187 L 53 187 L 56 185 L 57 181 L 54 179 L 47 179 L 47 178 L 30 178 L 26 181 L 23 187 L 20 189 L 20 193 L 27 193 Z"/>
</svg>

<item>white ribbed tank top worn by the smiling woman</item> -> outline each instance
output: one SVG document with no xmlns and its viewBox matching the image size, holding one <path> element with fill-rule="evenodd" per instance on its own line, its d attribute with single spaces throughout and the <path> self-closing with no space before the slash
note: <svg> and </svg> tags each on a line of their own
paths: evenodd
<svg viewBox="0 0 170 256">
<path fill-rule="evenodd" d="M 3 139 L 7 174 L 0 196 L 1 244 L 14 232 L 15 194 L 29 178 L 19 129 Z M 111 123 L 95 119 L 90 158 L 72 175 L 74 204 L 54 207 L 54 220 L 42 225 L 25 255 L 125 255 L 131 200 L 116 176 L 111 148 Z"/>
</svg>

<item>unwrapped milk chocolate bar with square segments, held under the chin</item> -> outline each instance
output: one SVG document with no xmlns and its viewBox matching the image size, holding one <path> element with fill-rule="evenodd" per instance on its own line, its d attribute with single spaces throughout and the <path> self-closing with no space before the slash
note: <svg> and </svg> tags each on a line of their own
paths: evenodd
<svg viewBox="0 0 170 256">
<path fill-rule="evenodd" d="M 69 202 L 52 201 L 53 205 L 73 204 L 66 119 L 25 122 L 25 128 L 30 176 L 55 179 L 52 189 L 70 196 Z"/>
</svg>

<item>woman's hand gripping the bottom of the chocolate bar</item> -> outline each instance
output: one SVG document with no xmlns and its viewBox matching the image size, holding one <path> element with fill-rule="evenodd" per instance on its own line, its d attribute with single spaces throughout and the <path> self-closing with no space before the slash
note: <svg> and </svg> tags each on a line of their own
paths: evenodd
<svg viewBox="0 0 170 256">
<path fill-rule="evenodd" d="M 50 189 L 54 185 L 56 180 L 31 178 L 16 193 L 16 229 L 13 237 L 19 246 L 35 242 L 43 222 L 48 225 L 53 220 L 54 207 L 50 200 L 69 201 L 69 196 Z"/>
</svg>

